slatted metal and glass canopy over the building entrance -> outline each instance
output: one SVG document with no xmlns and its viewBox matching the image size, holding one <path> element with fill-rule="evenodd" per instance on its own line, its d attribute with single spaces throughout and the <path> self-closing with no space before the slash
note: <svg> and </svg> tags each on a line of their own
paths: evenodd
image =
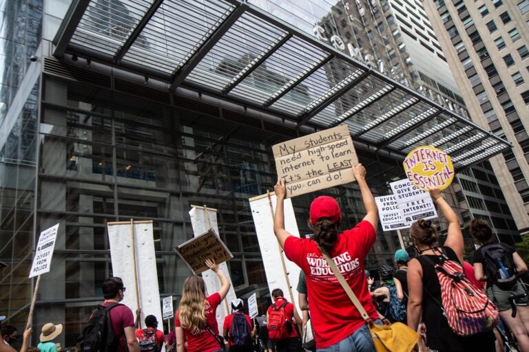
<svg viewBox="0 0 529 352">
<path fill-rule="evenodd" d="M 76 54 L 295 123 L 346 124 L 397 155 L 429 144 L 466 168 L 511 145 L 245 0 L 76 0 L 54 55 Z"/>
</svg>

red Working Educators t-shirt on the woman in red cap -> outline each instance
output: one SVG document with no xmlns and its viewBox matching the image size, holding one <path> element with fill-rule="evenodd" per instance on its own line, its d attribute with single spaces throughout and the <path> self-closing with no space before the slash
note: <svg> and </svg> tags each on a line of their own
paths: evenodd
<svg viewBox="0 0 529 352">
<path fill-rule="evenodd" d="M 360 221 L 355 228 L 338 235 L 329 253 L 372 319 L 377 319 L 378 315 L 367 288 L 364 259 L 375 239 L 373 225 L 369 221 Z M 307 277 L 307 296 L 318 349 L 344 340 L 364 325 L 360 312 L 327 265 L 315 241 L 289 236 L 284 242 L 284 253 L 301 267 Z"/>
</svg>

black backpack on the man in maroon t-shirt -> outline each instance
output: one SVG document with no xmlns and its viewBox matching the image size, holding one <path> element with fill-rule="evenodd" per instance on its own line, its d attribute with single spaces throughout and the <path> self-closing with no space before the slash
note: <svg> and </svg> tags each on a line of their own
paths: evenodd
<svg viewBox="0 0 529 352">
<path fill-rule="evenodd" d="M 118 338 L 112 330 L 110 321 L 110 309 L 121 305 L 113 303 L 103 307 L 98 306 L 88 320 L 81 335 L 80 352 L 111 352 L 118 349 Z"/>
</svg>

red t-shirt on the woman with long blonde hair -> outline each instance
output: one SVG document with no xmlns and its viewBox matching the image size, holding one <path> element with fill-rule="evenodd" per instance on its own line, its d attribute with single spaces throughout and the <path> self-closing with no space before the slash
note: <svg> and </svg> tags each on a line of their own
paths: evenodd
<svg viewBox="0 0 529 352">
<path fill-rule="evenodd" d="M 207 325 L 218 335 L 218 325 L 215 316 L 218 305 L 220 305 L 220 294 L 215 292 L 206 298 L 206 322 Z M 180 327 L 180 311 L 176 311 L 174 318 L 174 326 Z M 188 329 L 184 329 L 185 340 L 187 341 L 187 352 L 211 352 L 220 349 L 220 344 L 216 338 L 211 335 L 207 328 L 191 333 Z"/>
</svg>

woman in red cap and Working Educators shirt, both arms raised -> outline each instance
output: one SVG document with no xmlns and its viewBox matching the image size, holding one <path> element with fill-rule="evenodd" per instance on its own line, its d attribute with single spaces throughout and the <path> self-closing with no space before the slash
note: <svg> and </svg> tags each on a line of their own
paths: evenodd
<svg viewBox="0 0 529 352">
<path fill-rule="evenodd" d="M 364 319 L 327 265 L 320 248 L 333 259 L 373 321 L 382 323 L 377 320 L 364 274 L 364 259 L 375 243 L 378 210 L 366 183 L 364 166 L 353 166 L 353 173 L 360 187 L 366 216 L 354 228 L 340 233 L 340 206 L 332 197 L 318 197 L 312 201 L 309 214 L 314 231 L 312 239 L 291 236 L 284 229 L 285 181 L 280 179 L 275 187 L 277 205 L 273 230 L 287 258 L 301 267 L 307 276 L 309 310 L 318 351 L 375 351 Z"/>
</svg>

